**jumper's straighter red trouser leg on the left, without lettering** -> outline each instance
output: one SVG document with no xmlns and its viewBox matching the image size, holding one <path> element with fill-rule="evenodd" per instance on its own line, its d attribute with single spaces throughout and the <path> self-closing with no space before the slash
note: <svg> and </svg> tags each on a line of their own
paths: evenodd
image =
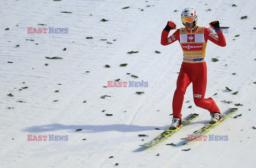
<svg viewBox="0 0 256 168">
<path fill-rule="evenodd" d="M 173 117 L 178 117 L 180 121 L 181 121 L 181 108 L 184 100 L 184 95 L 191 81 L 192 80 L 191 80 L 190 74 L 181 66 L 180 73 L 177 79 L 177 88 L 174 92 L 173 101 L 172 101 Z"/>
</svg>

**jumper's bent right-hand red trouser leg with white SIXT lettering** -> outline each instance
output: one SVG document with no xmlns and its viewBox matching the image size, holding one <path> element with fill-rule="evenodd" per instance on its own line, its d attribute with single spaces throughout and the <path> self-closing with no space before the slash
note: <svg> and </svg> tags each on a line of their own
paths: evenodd
<svg viewBox="0 0 256 168">
<path fill-rule="evenodd" d="M 192 83 L 195 105 L 208 110 L 210 113 L 220 113 L 218 106 L 211 97 L 204 98 L 207 83 L 206 63 L 196 63 L 193 66 Z"/>
</svg>

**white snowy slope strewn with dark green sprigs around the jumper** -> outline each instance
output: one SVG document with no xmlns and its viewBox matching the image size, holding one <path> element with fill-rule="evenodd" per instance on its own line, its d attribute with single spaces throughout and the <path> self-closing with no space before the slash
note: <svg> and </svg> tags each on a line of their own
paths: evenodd
<svg viewBox="0 0 256 168">
<path fill-rule="evenodd" d="M 182 114 L 196 112 L 199 117 L 163 142 L 139 147 L 171 123 L 182 51 L 178 42 L 161 46 L 160 39 L 168 20 L 183 26 L 180 12 L 188 6 L 196 9 L 198 26 L 208 28 L 209 22 L 219 20 L 229 27 L 226 47 L 210 41 L 207 45 L 206 97 L 213 97 L 221 111 L 242 104 L 234 114 L 242 116 L 206 133 L 228 135 L 228 141 L 183 145 L 186 141 L 180 138 L 210 120 L 209 112 L 194 105 L 189 86 Z M 1 1 L 1 167 L 252 167 L 255 7 L 252 0 Z M 68 33 L 27 33 L 28 27 L 68 28 Z M 139 53 L 127 54 L 131 51 Z M 103 87 L 117 79 L 148 82 L 148 87 Z M 28 141 L 28 135 L 68 136 L 68 141 Z M 176 146 L 165 145 L 170 143 Z"/>
</svg>

